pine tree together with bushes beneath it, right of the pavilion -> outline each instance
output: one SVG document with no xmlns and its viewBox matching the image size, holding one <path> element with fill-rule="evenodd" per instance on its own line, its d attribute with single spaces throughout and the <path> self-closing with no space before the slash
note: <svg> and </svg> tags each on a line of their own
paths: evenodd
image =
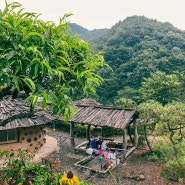
<svg viewBox="0 0 185 185">
<path fill-rule="evenodd" d="M 141 104 L 138 110 L 147 128 L 151 128 L 151 123 L 154 123 L 152 134 L 164 136 L 162 140 L 156 137 L 157 139 L 150 143 L 152 150 L 144 156 L 150 160 L 164 162 L 163 175 L 184 178 L 184 103 L 172 101 L 163 106 L 158 102 L 149 101 Z"/>
</svg>

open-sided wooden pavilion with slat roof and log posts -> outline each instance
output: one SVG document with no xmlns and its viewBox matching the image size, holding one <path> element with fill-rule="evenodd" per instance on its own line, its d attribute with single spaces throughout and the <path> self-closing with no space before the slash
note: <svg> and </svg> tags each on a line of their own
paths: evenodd
<svg viewBox="0 0 185 185">
<path fill-rule="evenodd" d="M 135 108 L 118 108 L 118 107 L 108 107 L 102 106 L 95 100 L 88 98 L 76 101 L 75 107 L 77 109 L 76 114 L 69 120 L 71 123 L 70 126 L 70 136 L 71 136 L 71 145 L 75 147 L 75 141 L 73 136 L 73 129 L 75 124 L 86 124 L 86 139 L 90 143 L 90 129 L 92 126 L 101 127 L 110 127 L 113 129 L 118 129 L 122 131 L 123 141 L 122 148 L 123 151 L 126 151 L 121 159 L 127 157 L 138 144 L 138 132 L 137 132 L 137 123 L 135 121 L 137 117 L 137 111 Z M 131 123 L 134 124 L 134 143 L 133 146 L 127 150 L 127 139 L 128 132 L 127 126 Z M 130 135 L 129 135 L 130 136 Z M 131 136 L 130 136 L 131 137 Z"/>
</svg>

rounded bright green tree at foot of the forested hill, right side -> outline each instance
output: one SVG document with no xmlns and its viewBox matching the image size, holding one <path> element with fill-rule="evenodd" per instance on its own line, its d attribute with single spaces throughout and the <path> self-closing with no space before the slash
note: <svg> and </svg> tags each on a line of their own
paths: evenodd
<svg viewBox="0 0 185 185">
<path fill-rule="evenodd" d="M 153 99 L 163 105 L 173 100 L 181 99 L 181 92 L 182 83 L 178 75 L 167 75 L 161 71 L 151 73 L 151 77 L 145 78 L 140 88 L 140 93 L 144 101 Z"/>
</svg>

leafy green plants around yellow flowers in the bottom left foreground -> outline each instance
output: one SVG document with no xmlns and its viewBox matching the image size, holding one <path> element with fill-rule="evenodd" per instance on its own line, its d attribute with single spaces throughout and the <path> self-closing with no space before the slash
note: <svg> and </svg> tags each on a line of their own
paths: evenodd
<svg viewBox="0 0 185 185">
<path fill-rule="evenodd" d="M 53 172 L 49 166 L 32 163 L 32 157 L 33 155 L 24 149 L 19 149 L 14 156 L 7 156 L 6 165 L 0 169 L 0 183 L 6 182 L 9 185 L 14 185 L 29 179 L 33 185 L 58 185 L 62 175 Z M 82 180 L 80 185 L 93 185 L 93 183 Z"/>
</svg>

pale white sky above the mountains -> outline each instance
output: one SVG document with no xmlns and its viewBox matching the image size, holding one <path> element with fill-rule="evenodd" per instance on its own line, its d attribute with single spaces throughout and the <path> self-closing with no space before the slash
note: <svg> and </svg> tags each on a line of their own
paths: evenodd
<svg viewBox="0 0 185 185">
<path fill-rule="evenodd" d="M 67 21 L 89 30 L 111 28 L 128 16 L 144 15 L 161 22 L 170 22 L 185 30 L 185 0 L 7 0 L 19 2 L 25 11 L 41 13 L 40 19 L 56 24 L 65 13 Z M 5 0 L 0 0 L 3 9 Z"/>
</svg>

